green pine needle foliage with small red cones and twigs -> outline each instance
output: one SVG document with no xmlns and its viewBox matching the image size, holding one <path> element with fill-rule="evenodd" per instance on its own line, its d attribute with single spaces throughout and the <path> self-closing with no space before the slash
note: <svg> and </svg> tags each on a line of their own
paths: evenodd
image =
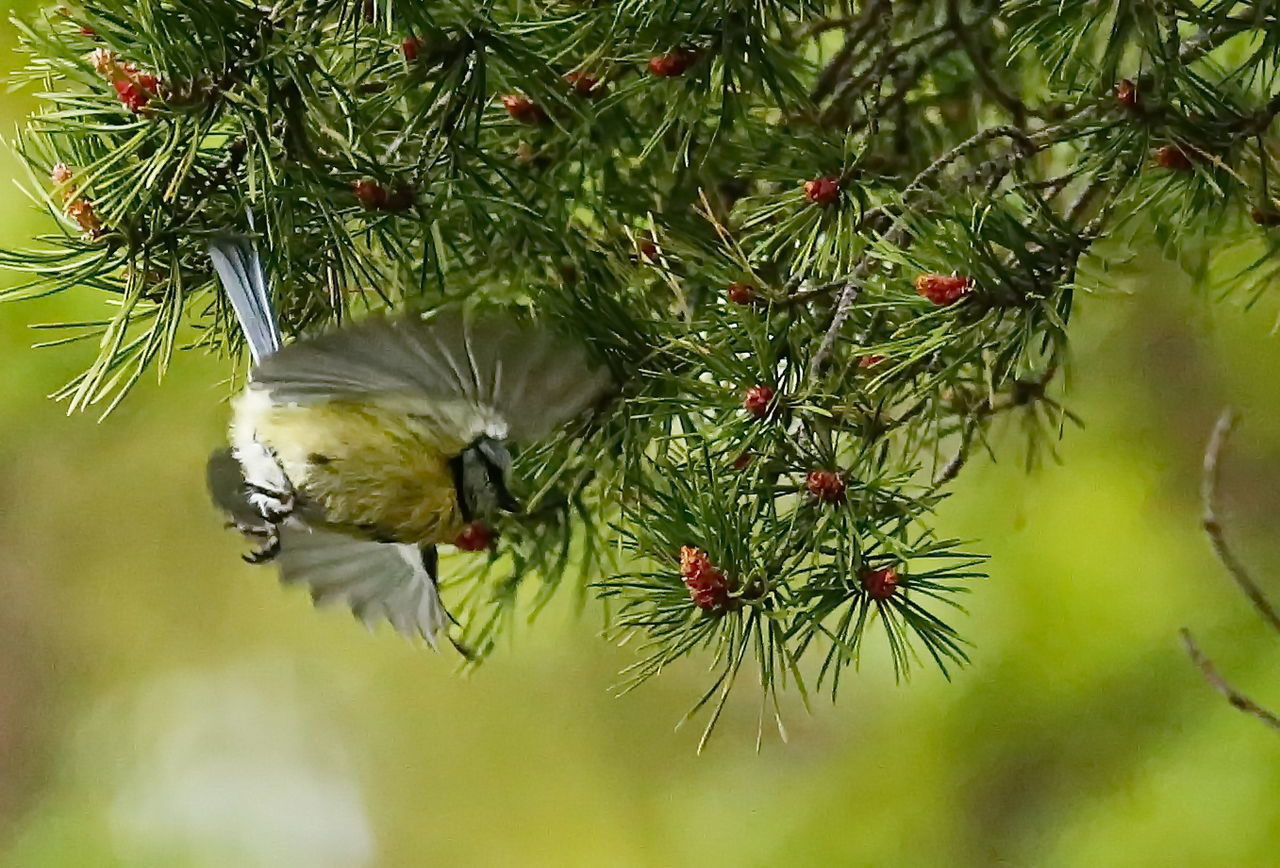
<svg viewBox="0 0 1280 868">
<path fill-rule="evenodd" d="M 965 661 L 943 616 L 982 558 L 932 510 L 997 419 L 1032 460 L 1073 419 L 1073 307 L 1135 239 L 1197 275 L 1247 246 L 1249 297 L 1271 279 L 1277 15 L 91 0 L 18 22 L 44 109 L 17 146 L 58 229 L 3 264 L 13 298 L 111 305 L 49 342 L 96 346 L 73 408 L 179 350 L 243 366 L 205 242 L 250 213 L 288 334 L 462 302 L 586 339 L 622 393 L 517 457 L 529 510 L 445 600 L 483 657 L 573 565 L 639 638 L 628 682 L 712 657 L 714 722 L 749 654 L 767 696 L 835 693 L 872 640 L 904 675 Z M 727 595 L 694 603 L 686 547 Z"/>
</svg>

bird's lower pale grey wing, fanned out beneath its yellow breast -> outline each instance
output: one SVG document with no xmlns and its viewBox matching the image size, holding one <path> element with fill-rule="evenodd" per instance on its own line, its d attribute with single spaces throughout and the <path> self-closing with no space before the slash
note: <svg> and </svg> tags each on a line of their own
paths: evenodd
<svg viewBox="0 0 1280 868">
<path fill-rule="evenodd" d="M 306 585 L 316 606 L 347 606 L 369 627 L 388 621 L 401 635 L 422 636 L 434 648 L 449 625 L 417 547 L 285 526 L 275 562 L 282 583 Z"/>
</svg>

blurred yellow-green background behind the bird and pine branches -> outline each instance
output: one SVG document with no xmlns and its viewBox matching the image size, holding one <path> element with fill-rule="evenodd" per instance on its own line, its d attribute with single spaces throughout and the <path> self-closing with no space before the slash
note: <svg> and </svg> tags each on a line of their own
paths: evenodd
<svg viewBox="0 0 1280 868">
<path fill-rule="evenodd" d="M 31 106 L 5 96 L 5 129 Z M 41 216 L 6 196 L 0 245 L 22 245 Z M 973 666 L 895 685 L 872 654 L 835 707 L 792 700 L 790 744 L 760 754 L 742 689 L 701 757 L 698 727 L 672 725 L 707 673 L 612 698 L 630 652 L 571 594 L 471 677 L 312 612 L 239 562 L 206 503 L 223 364 L 183 357 L 108 422 L 67 417 L 44 396 L 91 348 L 31 351 L 28 326 L 101 300 L 0 309 L 5 864 L 1280 863 L 1280 743 L 1176 641 L 1193 627 L 1280 705 L 1280 643 L 1196 502 L 1203 440 L 1234 403 L 1229 529 L 1280 593 L 1280 306 L 1132 271 L 1080 305 L 1070 406 L 1087 428 L 1062 463 L 1025 474 L 1011 428 L 941 512 L 993 554 L 957 623 Z"/>
</svg>

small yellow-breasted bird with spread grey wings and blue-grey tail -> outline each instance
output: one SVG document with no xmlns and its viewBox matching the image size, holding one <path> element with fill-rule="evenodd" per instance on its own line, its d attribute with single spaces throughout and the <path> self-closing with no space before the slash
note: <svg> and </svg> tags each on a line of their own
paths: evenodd
<svg viewBox="0 0 1280 868">
<path fill-rule="evenodd" d="M 283 346 L 253 245 L 209 252 L 255 365 L 207 467 L 215 504 L 259 544 L 246 559 L 434 648 L 451 621 L 436 545 L 517 512 L 508 443 L 553 434 L 611 378 L 515 317 L 374 317 Z"/>
</svg>

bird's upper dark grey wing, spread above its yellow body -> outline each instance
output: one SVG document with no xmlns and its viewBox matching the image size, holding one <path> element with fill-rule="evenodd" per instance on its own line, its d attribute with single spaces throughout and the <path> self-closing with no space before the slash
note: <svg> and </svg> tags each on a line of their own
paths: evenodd
<svg viewBox="0 0 1280 868">
<path fill-rule="evenodd" d="M 607 392 L 608 373 L 581 346 L 511 319 L 374 317 L 294 342 L 252 382 L 275 402 L 417 398 L 426 408 L 472 407 L 513 440 L 539 439 Z M 433 412 L 429 410 L 428 412 Z"/>
</svg>

